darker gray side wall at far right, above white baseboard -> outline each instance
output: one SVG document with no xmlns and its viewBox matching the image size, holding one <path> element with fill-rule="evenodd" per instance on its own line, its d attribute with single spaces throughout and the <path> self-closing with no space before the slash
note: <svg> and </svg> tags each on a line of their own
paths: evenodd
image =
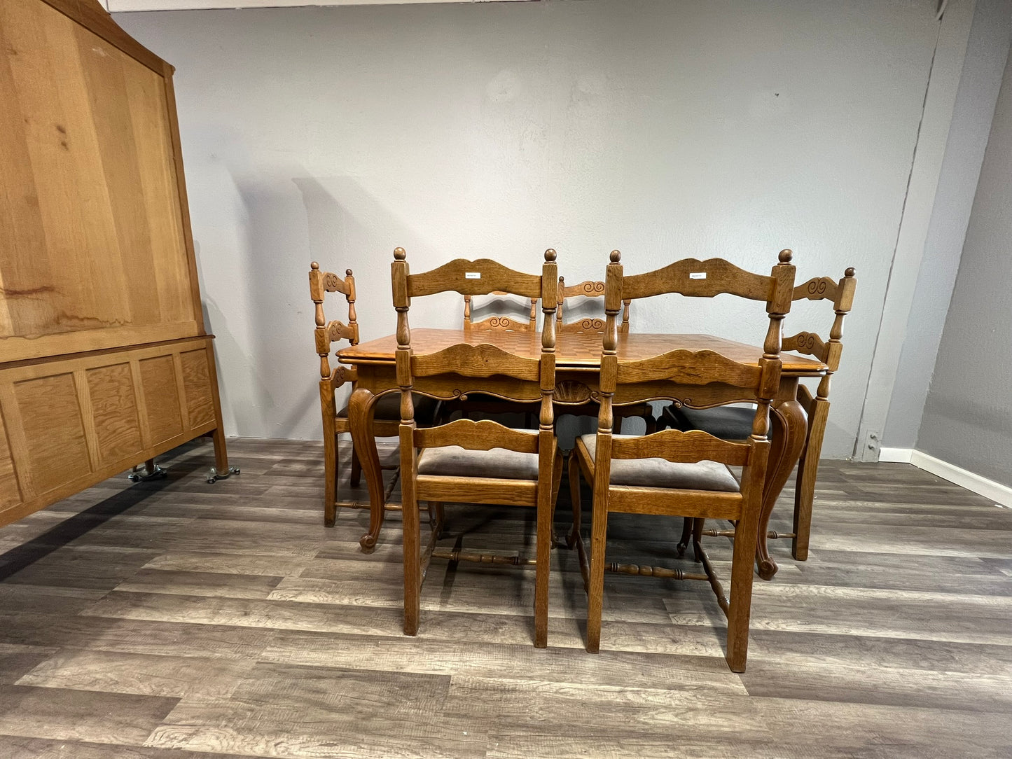
<svg viewBox="0 0 1012 759">
<path fill-rule="evenodd" d="M 1012 58 L 917 448 L 1012 486 Z"/>
</svg>

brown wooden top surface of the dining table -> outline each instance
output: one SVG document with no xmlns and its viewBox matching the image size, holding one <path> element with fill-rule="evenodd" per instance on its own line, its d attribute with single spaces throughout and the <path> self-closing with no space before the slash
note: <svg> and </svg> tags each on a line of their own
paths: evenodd
<svg viewBox="0 0 1012 759">
<path fill-rule="evenodd" d="M 493 332 L 484 330 L 413 329 L 411 347 L 416 355 L 436 353 L 456 343 L 495 345 L 514 355 L 536 358 L 541 350 L 541 333 Z M 727 340 L 713 335 L 649 335 L 630 333 L 618 335 L 618 360 L 637 361 L 676 349 L 712 350 L 740 363 L 758 363 L 762 348 Z M 341 363 L 393 363 L 397 352 L 397 337 L 388 335 L 337 351 Z M 821 376 L 826 364 L 793 353 L 781 353 L 783 373 L 793 376 Z M 592 333 L 566 333 L 556 337 L 558 368 L 593 369 L 601 361 L 601 336 Z"/>
</svg>

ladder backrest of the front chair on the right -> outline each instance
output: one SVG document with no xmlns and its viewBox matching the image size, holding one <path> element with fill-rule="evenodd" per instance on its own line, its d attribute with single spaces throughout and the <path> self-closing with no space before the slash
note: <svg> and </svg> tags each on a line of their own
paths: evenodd
<svg viewBox="0 0 1012 759">
<path fill-rule="evenodd" d="M 789 263 L 789 251 L 781 252 L 779 258 L 780 262 L 768 277 L 744 271 L 727 261 L 715 260 L 680 261 L 651 275 L 625 277 L 621 256 L 618 251 L 612 251 L 605 275 L 601 408 L 595 453 L 595 471 L 601 468 L 601 474 L 595 475 L 595 480 L 603 478 L 604 482 L 608 482 L 611 458 L 662 457 L 685 462 L 706 459 L 748 468 L 757 449 L 768 452 L 769 406 L 780 382 L 779 325 L 789 311 L 794 283 L 794 267 Z M 703 272 L 706 276 L 689 278 L 690 273 L 696 272 Z M 632 281 L 631 286 L 627 286 L 629 280 Z M 719 292 L 748 293 L 745 297 L 766 300 L 770 324 L 763 355 L 758 362 L 738 362 L 711 350 L 678 349 L 639 361 L 619 363 L 616 317 L 622 299 L 682 290 L 693 294 L 706 293 L 707 297 Z M 630 388 L 636 389 L 631 395 L 628 392 Z M 691 397 L 686 397 L 686 388 L 691 389 Z M 699 430 L 682 432 L 669 429 L 643 437 L 612 439 L 611 407 L 617 389 L 624 391 L 623 402 L 632 398 L 638 401 L 671 399 L 699 408 L 755 403 L 752 434 L 745 442 L 732 442 Z M 743 487 L 748 479 L 743 478 Z"/>
</svg>

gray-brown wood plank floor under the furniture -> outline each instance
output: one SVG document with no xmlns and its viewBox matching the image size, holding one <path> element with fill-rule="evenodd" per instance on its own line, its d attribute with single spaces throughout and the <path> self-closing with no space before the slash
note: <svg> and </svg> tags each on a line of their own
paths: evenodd
<svg viewBox="0 0 1012 759">
<path fill-rule="evenodd" d="M 773 542 L 736 675 L 702 583 L 608 576 L 585 653 L 565 550 L 547 650 L 532 569 L 443 561 L 406 638 L 400 515 L 365 556 L 367 512 L 322 526 L 320 445 L 230 445 L 238 478 L 207 485 L 188 444 L 166 481 L 0 529 L 0 757 L 1012 756 L 1012 511 L 913 467 L 823 463 L 810 560 Z M 532 512 L 447 516 L 465 547 L 532 553 Z M 609 556 L 671 566 L 680 524 L 621 516 Z"/>
</svg>

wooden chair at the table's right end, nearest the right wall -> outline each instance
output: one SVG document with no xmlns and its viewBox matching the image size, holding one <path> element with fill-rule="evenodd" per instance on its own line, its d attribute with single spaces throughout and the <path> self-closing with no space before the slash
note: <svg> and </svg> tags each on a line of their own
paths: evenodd
<svg viewBox="0 0 1012 759">
<path fill-rule="evenodd" d="M 809 537 L 812 531 L 812 503 L 815 499 L 816 478 L 819 473 L 819 455 L 822 452 L 823 436 L 826 433 L 826 422 L 829 418 L 829 386 L 833 374 L 840 367 L 840 354 L 843 352 L 843 318 L 850 312 L 854 302 L 854 291 L 857 279 L 854 269 L 848 268 L 839 281 L 829 277 L 815 277 L 794 287 L 794 301 L 832 301 L 833 326 L 829 331 L 829 340 L 824 341 L 815 332 L 798 332 L 796 335 L 783 338 L 783 350 L 814 356 L 826 364 L 826 375 L 819 383 L 815 398 L 804 385 L 797 389 L 797 400 L 809 417 L 809 430 L 805 439 L 805 448 L 797 461 L 797 481 L 794 486 L 794 523 L 793 531 L 787 533 L 770 531 L 768 538 L 791 538 L 790 553 L 795 560 L 804 562 L 809 558 Z M 682 430 L 703 430 L 711 435 L 725 439 L 745 439 L 749 435 L 749 425 L 753 416 L 748 408 L 720 409 L 675 409 L 665 410 L 665 424 Z M 688 527 L 688 525 L 686 525 Z M 709 530 L 712 534 L 725 533 L 725 530 Z M 688 544 L 688 530 L 683 532 L 679 543 L 684 551 Z"/>
</svg>

